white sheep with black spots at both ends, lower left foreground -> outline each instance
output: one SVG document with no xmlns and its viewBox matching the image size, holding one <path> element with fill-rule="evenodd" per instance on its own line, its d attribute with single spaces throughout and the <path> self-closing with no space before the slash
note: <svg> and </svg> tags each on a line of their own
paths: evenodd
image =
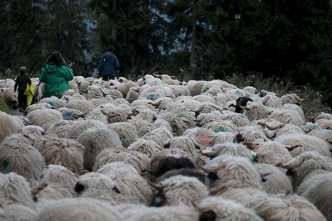
<svg viewBox="0 0 332 221">
<path fill-rule="evenodd" d="M 80 176 L 75 184 L 78 197 L 90 197 L 109 202 L 111 205 L 130 202 L 128 196 L 123 196 L 117 184 L 107 175 L 87 173 Z"/>
</svg>

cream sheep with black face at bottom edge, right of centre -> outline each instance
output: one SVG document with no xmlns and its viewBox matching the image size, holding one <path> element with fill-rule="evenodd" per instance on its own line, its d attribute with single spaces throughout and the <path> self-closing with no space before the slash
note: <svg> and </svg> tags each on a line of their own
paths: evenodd
<svg viewBox="0 0 332 221">
<path fill-rule="evenodd" d="M 201 212 L 200 220 L 263 221 L 254 210 L 222 197 L 207 197 L 196 209 Z"/>
</svg>

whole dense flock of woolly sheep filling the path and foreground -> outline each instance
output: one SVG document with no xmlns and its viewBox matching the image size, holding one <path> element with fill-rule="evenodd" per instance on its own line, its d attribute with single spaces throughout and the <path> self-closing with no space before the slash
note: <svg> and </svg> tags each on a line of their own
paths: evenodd
<svg viewBox="0 0 332 221">
<path fill-rule="evenodd" d="M 0 112 L 0 220 L 332 220 L 331 114 L 160 77 L 75 76 L 26 117 Z"/>
</svg>

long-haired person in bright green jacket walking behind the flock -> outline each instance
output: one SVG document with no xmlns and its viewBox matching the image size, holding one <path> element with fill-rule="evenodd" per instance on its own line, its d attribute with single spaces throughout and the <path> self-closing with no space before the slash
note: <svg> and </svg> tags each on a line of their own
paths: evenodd
<svg viewBox="0 0 332 221">
<path fill-rule="evenodd" d="M 61 97 L 61 93 L 69 90 L 68 81 L 74 78 L 72 69 L 74 63 L 66 65 L 61 53 L 51 54 L 39 74 L 39 80 L 45 83 L 43 97 Z"/>
</svg>

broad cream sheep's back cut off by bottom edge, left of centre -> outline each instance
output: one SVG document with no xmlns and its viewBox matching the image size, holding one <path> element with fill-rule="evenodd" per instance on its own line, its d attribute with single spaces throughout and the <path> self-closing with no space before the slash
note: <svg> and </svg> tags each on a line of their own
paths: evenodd
<svg viewBox="0 0 332 221">
<path fill-rule="evenodd" d="M 56 220 L 122 221 L 120 214 L 111 205 L 91 198 L 62 199 L 39 206 L 36 221 Z"/>
</svg>

